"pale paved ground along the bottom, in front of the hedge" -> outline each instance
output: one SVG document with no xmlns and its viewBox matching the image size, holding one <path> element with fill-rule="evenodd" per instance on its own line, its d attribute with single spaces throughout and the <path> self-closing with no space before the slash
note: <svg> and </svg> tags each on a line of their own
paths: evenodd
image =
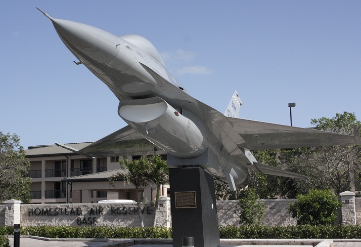
<svg viewBox="0 0 361 247">
<path fill-rule="evenodd" d="M 11 236 L 12 237 L 12 236 Z M 13 247 L 13 238 L 9 236 L 10 246 Z M 354 242 L 339 242 L 340 240 L 334 241 L 334 247 L 361 247 L 361 240 L 354 240 Z M 345 241 L 345 240 L 342 240 Z M 353 241 L 353 240 L 348 240 Z M 117 241 L 120 243 L 119 241 Z M 127 242 L 127 241 L 126 241 Z M 48 239 L 40 238 L 34 239 L 29 237 L 20 238 L 20 247 L 106 247 L 115 242 L 94 242 L 94 241 L 48 241 Z M 173 247 L 173 245 L 135 245 L 133 247 Z M 240 247 L 238 245 L 223 245 L 222 247 Z M 241 247 L 254 247 L 243 245 Z M 268 246 L 276 247 L 276 246 Z M 278 246 L 279 247 L 279 246 Z M 284 246 L 286 247 L 286 246 Z M 296 247 L 296 246 L 292 246 Z M 306 246 L 303 246 L 306 247 Z"/>
</svg>

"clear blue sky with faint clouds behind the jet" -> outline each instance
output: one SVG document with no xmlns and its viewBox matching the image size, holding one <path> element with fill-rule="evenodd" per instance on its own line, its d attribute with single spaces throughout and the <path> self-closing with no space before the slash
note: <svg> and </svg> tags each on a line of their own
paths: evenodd
<svg viewBox="0 0 361 247">
<path fill-rule="evenodd" d="M 361 1 L 3 1 L 0 131 L 21 145 L 96 141 L 125 126 L 118 100 L 57 36 L 53 18 L 138 34 L 195 98 L 224 113 L 310 127 L 343 111 L 361 120 Z"/>
</svg>

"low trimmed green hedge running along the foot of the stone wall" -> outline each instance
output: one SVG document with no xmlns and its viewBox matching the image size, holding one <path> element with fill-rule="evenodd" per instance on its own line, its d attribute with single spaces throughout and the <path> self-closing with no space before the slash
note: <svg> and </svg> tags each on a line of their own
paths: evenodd
<svg viewBox="0 0 361 247">
<path fill-rule="evenodd" d="M 338 226 L 221 226 L 221 239 L 360 239 L 361 225 Z M 0 235 L 13 235 L 12 226 L 0 226 Z M 45 238 L 170 239 L 166 227 L 20 227 L 20 235 Z"/>
</svg>

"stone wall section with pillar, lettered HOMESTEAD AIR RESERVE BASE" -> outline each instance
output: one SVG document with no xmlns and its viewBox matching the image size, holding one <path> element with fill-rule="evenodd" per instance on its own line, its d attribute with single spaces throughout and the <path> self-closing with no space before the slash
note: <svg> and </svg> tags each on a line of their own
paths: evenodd
<svg viewBox="0 0 361 247">
<path fill-rule="evenodd" d="M 145 204 L 144 226 L 153 226 L 154 207 Z M 170 227 L 170 202 L 160 204 L 157 226 Z M 22 205 L 20 225 L 26 226 L 117 226 L 139 227 L 136 204 L 42 204 Z"/>
</svg>

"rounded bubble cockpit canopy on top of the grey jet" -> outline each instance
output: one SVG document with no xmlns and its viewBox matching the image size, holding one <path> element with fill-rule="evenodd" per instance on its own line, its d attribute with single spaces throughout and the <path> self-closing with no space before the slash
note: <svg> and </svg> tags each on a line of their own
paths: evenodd
<svg viewBox="0 0 361 247">
<path fill-rule="evenodd" d="M 127 35 L 119 36 L 119 38 L 135 44 L 140 49 L 142 49 L 143 51 L 148 53 L 156 61 L 158 61 L 158 63 L 160 63 L 161 65 L 166 67 L 164 64 L 163 58 L 160 56 L 158 50 L 155 48 L 155 46 L 150 41 L 148 41 L 144 37 L 141 37 L 136 34 L 127 34 Z"/>
</svg>

